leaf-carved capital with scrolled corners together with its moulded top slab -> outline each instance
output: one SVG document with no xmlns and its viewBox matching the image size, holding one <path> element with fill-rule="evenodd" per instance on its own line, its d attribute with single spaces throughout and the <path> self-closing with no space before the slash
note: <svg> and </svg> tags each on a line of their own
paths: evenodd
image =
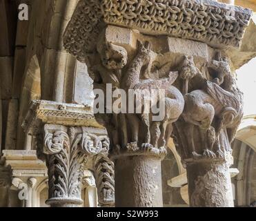
<svg viewBox="0 0 256 221">
<path fill-rule="evenodd" d="M 83 203 L 83 171 L 88 157 L 104 155 L 108 159 L 109 150 L 106 129 L 97 124 L 90 107 L 33 101 L 23 128 L 26 133 L 31 131 L 37 135 L 37 155 L 48 167 L 46 204 L 52 207 L 80 206 Z M 113 171 L 108 169 L 104 173 L 110 177 Z M 103 182 L 99 182 L 99 188 L 102 189 L 102 185 Z"/>
</svg>

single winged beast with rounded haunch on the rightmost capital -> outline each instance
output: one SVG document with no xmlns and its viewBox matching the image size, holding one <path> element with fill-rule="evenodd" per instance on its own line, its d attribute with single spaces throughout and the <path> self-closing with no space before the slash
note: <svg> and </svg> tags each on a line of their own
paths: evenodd
<svg viewBox="0 0 256 221">
<path fill-rule="evenodd" d="M 230 72 L 228 62 L 224 58 L 213 60 L 209 68 L 217 71 L 213 81 L 201 77 L 201 90 L 193 90 L 184 95 L 185 107 L 182 116 L 189 123 L 189 137 L 193 139 L 194 126 L 199 127 L 203 155 L 205 157 L 221 157 L 231 151 L 237 127 L 241 122 L 242 93 L 235 84 L 235 78 Z M 217 76 L 217 77 L 216 77 Z M 190 138 L 191 138 L 190 137 Z M 192 142 L 192 154 L 198 157 L 195 144 Z"/>
</svg>

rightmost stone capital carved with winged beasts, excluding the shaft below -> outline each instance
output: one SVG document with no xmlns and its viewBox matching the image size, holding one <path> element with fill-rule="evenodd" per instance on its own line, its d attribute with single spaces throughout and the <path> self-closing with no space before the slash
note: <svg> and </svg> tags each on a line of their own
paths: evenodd
<svg viewBox="0 0 256 221">
<path fill-rule="evenodd" d="M 243 97 L 230 71 L 228 59 L 217 52 L 208 61 L 208 79 L 192 57 L 181 66 L 185 107 L 175 122 L 173 137 L 186 162 L 213 161 L 232 164 L 231 142 L 243 116 Z M 189 82 L 189 83 L 188 83 Z"/>
</svg>

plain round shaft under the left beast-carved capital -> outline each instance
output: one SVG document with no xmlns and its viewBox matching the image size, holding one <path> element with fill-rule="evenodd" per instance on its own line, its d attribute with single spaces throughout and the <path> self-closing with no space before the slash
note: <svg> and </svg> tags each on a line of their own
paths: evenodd
<svg viewBox="0 0 256 221">
<path fill-rule="evenodd" d="M 148 155 L 120 157 L 115 163 L 116 206 L 163 206 L 161 159 Z"/>
</svg>

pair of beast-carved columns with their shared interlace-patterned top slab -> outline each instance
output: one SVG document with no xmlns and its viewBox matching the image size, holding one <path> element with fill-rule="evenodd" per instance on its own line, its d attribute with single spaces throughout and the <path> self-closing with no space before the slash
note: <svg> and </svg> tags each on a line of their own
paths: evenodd
<svg viewBox="0 0 256 221">
<path fill-rule="evenodd" d="M 201 4 L 204 1 L 172 1 L 165 6 L 81 0 L 67 26 L 64 48 L 86 63 L 99 92 L 95 112 L 103 113 L 97 119 L 110 137 L 116 206 L 162 206 L 160 162 L 170 135 L 176 137 L 188 168 L 195 169 L 190 164 L 195 159 L 216 158 L 225 164 L 221 172 L 228 170 L 224 156 L 230 155 L 242 117 L 242 97 L 228 58 L 215 59 L 215 48 L 225 52 L 239 47 L 252 12 L 210 0 Z M 243 22 L 238 22 L 241 18 Z M 140 100 L 130 96 L 134 90 Z M 141 104 L 141 111 L 135 104 Z M 157 106 L 158 113 L 152 111 Z M 199 166 L 198 172 L 206 173 L 204 164 Z M 218 170 L 206 175 L 219 182 L 218 176 L 213 177 Z M 226 183 L 220 189 L 228 192 Z M 195 185 L 198 189 L 200 182 Z M 213 198 L 215 191 L 206 198 Z M 212 206 L 207 200 L 191 205 Z M 228 200 L 219 202 L 231 205 Z"/>
</svg>

